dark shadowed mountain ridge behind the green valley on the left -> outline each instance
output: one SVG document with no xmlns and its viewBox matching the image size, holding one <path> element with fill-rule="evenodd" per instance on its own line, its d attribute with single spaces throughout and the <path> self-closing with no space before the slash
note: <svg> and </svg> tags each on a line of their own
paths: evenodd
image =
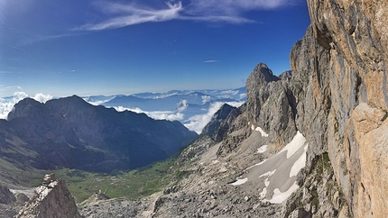
<svg viewBox="0 0 388 218">
<path fill-rule="evenodd" d="M 0 159 L 21 168 L 111 172 L 166 159 L 197 138 L 179 122 L 117 112 L 73 95 L 25 98 L 0 120 Z"/>
</svg>

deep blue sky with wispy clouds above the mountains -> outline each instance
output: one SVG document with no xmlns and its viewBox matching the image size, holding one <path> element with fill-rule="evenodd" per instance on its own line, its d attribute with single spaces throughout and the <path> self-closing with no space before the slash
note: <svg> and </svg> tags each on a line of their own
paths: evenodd
<svg viewBox="0 0 388 218">
<path fill-rule="evenodd" d="M 0 0 L 0 96 L 245 86 L 308 25 L 305 0 Z"/>
</svg>

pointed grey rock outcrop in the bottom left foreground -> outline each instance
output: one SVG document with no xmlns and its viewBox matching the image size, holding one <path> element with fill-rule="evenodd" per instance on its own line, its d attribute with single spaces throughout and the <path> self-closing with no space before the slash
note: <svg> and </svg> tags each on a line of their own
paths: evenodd
<svg viewBox="0 0 388 218">
<path fill-rule="evenodd" d="M 35 195 L 15 217 L 80 218 L 81 216 L 65 181 L 57 180 L 54 174 L 47 174 L 43 178 L 42 186 L 36 188 Z"/>
</svg>

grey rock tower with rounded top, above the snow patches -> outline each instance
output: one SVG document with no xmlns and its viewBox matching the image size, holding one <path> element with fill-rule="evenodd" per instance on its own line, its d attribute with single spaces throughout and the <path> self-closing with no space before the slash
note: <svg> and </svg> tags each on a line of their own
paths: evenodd
<svg viewBox="0 0 388 218">
<path fill-rule="evenodd" d="M 260 63 L 249 75 L 245 87 L 248 122 L 267 132 L 273 142 L 280 142 L 281 135 L 286 141 L 291 141 L 296 133 L 295 103 L 289 98 L 289 89 L 283 81 L 274 76 L 265 64 Z"/>
</svg>

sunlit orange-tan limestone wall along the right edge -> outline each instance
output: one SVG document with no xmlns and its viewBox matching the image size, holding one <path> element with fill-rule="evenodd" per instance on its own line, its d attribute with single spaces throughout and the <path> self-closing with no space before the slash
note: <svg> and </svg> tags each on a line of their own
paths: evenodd
<svg viewBox="0 0 388 218">
<path fill-rule="evenodd" d="M 328 153 L 338 183 L 354 216 L 386 217 L 388 2 L 308 4 L 314 36 L 328 57 L 326 68 L 314 71 L 329 78 Z"/>
</svg>

